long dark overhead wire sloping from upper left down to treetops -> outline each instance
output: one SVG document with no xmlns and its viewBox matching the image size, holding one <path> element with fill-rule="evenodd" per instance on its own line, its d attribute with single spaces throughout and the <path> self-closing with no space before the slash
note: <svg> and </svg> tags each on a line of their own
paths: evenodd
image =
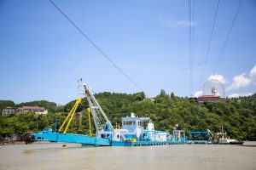
<svg viewBox="0 0 256 170">
<path fill-rule="evenodd" d="M 79 26 L 76 26 L 74 23 L 73 23 L 73 21 L 72 20 L 70 20 L 68 17 L 67 17 L 67 15 L 66 14 L 64 14 L 64 12 L 61 10 L 61 8 L 58 8 L 58 6 L 55 4 L 55 3 L 53 3 L 51 0 L 49 0 L 49 2 L 50 3 L 52 3 L 53 5 L 54 5 L 54 7 L 55 8 L 57 8 L 60 12 L 61 12 L 61 14 L 106 58 L 106 59 L 108 59 L 108 61 L 125 77 L 125 78 L 127 78 L 133 85 L 135 85 L 137 88 L 139 88 L 140 90 L 142 90 L 144 93 L 145 93 L 145 91 L 143 90 L 143 88 L 141 88 L 135 81 L 133 81 L 132 79 L 131 79 L 131 77 L 129 77 L 126 73 L 125 73 L 125 71 L 122 71 L 120 68 L 119 68 L 119 66 L 118 65 L 116 65 L 114 62 L 113 62 L 113 60 L 112 59 L 110 59 L 109 57 L 108 57 L 108 55 L 107 54 L 105 54 L 103 51 L 102 51 L 102 49 L 101 48 L 99 48 L 97 45 L 96 45 L 96 43 L 95 42 L 92 42 L 92 40 L 90 40 L 90 38 L 88 37 L 88 36 L 86 36 L 85 34 L 84 34 L 84 32 L 82 31 L 82 30 L 80 30 L 79 29 Z M 146 94 L 145 94 L 146 95 Z"/>
</svg>

